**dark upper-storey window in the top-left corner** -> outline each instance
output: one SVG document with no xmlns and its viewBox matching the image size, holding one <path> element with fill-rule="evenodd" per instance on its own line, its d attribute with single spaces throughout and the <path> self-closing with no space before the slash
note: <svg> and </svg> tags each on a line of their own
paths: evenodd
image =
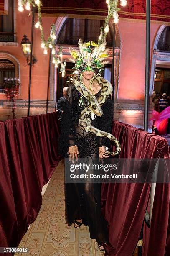
<svg viewBox="0 0 170 256">
<path fill-rule="evenodd" d="M 8 0 L 8 15 L 0 15 L 0 42 L 14 41 L 13 0 Z"/>
</svg>

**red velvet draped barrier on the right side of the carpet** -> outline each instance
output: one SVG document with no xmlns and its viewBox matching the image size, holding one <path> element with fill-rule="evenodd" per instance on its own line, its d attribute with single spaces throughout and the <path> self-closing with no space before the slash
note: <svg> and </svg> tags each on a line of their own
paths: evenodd
<svg viewBox="0 0 170 256">
<path fill-rule="evenodd" d="M 119 158 L 170 158 L 165 138 L 114 121 L 113 135 L 122 145 Z M 102 210 L 108 220 L 106 255 L 132 256 L 147 209 L 150 184 L 102 184 Z M 144 233 L 143 255 L 164 256 L 170 203 L 169 184 L 157 184 L 150 229 Z M 145 240 L 146 239 L 146 240 Z M 167 248 L 166 248 L 167 240 Z"/>
</svg>

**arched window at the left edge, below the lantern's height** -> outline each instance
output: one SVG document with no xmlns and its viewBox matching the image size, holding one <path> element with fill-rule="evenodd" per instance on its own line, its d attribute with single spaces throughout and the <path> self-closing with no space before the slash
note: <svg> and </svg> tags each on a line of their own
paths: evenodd
<svg viewBox="0 0 170 256">
<path fill-rule="evenodd" d="M 0 93 L 3 93 L 4 77 L 15 77 L 15 65 L 8 59 L 0 59 Z"/>
</svg>

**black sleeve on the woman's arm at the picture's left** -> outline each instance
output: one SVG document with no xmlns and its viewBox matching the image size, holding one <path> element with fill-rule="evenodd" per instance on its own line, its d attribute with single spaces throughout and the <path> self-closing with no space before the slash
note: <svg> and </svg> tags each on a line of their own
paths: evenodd
<svg viewBox="0 0 170 256">
<path fill-rule="evenodd" d="M 66 154 L 70 146 L 76 145 L 74 120 L 73 120 L 73 101 L 75 89 L 70 84 L 66 102 L 63 104 L 63 114 L 61 118 L 61 134 L 59 138 L 59 153 Z"/>
</svg>

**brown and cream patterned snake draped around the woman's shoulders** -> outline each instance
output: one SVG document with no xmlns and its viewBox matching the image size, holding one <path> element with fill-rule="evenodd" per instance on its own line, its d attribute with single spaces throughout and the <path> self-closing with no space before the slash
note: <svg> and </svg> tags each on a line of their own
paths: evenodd
<svg viewBox="0 0 170 256">
<path fill-rule="evenodd" d="M 84 108 L 84 110 L 81 111 L 79 125 L 86 132 L 92 133 L 93 135 L 96 136 L 105 137 L 113 141 L 115 146 L 117 147 L 117 150 L 115 152 L 106 151 L 104 154 L 110 154 L 112 156 L 115 156 L 119 154 L 119 152 L 121 151 L 121 145 L 117 138 L 115 138 L 111 133 L 107 133 L 105 131 L 101 131 L 95 128 L 91 125 L 90 120 L 90 116 L 93 119 L 94 115 L 103 115 L 101 106 L 104 104 L 107 97 L 111 95 L 112 85 L 100 76 L 97 76 L 94 79 L 94 81 L 96 81 L 101 87 L 101 94 L 99 95 L 98 99 L 96 99 L 95 95 L 92 95 L 91 93 L 89 94 L 89 91 L 81 85 L 80 81 L 76 80 L 76 78 L 73 78 L 73 84 L 76 87 L 76 90 L 78 90 L 81 93 L 81 95 L 83 95 L 86 99 L 89 99 L 90 103 L 88 107 Z"/>
</svg>

